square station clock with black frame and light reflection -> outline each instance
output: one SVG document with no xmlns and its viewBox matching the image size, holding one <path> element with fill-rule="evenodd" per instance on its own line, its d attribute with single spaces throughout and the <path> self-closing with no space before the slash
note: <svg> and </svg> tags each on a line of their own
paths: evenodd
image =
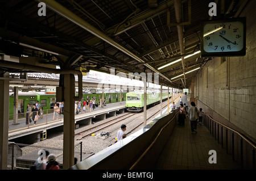
<svg viewBox="0 0 256 181">
<path fill-rule="evenodd" d="M 201 56 L 244 56 L 246 53 L 246 18 L 203 22 Z"/>
</svg>

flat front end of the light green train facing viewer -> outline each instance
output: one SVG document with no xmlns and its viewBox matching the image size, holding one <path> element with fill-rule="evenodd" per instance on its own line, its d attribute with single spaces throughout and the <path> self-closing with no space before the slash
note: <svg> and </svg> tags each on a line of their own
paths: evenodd
<svg viewBox="0 0 256 181">
<path fill-rule="evenodd" d="M 143 99 L 141 92 L 128 92 L 126 94 L 127 111 L 139 112 L 143 110 Z"/>
</svg>

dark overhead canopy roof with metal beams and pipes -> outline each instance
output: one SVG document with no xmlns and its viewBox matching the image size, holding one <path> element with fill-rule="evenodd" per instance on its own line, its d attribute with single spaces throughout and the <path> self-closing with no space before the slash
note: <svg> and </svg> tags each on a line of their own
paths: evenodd
<svg viewBox="0 0 256 181">
<path fill-rule="evenodd" d="M 51 0 L 42 1 L 46 16 L 39 16 L 39 2 L 0 0 L 0 53 L 40 57 L 40 63 L 61 69 L 110 72 L 115 68 L 127 77 L 135 72 L 158 73 L 160 84 L 176 88 L 191 85 L 200 69 L 183 73 L 201 68 L 210 58 L 197 53 L 159 68 L 199 51 L 200 23 L 219 18 L 221 10 L 221 1 L 215 1 L 218 16 L 209 16 L 212 0 Z M 225 16 L 238 16 L 245 2 L 225 0 Z M 0 66 L 0 71 L 26 70 Z"/>
</svg>

